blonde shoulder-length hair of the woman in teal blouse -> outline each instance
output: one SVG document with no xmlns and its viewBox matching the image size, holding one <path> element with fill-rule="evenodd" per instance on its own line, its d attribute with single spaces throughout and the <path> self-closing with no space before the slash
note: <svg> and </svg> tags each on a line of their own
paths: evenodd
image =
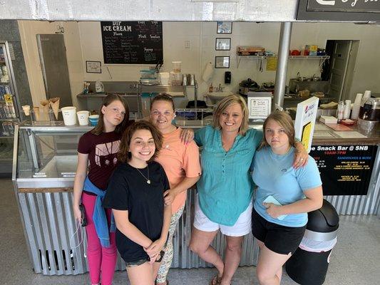
<svg viewBox="0 0 380 285">
<path fill-rule="evenodd" d="M 225 109 L 227 109 L 228 107 L 230 107 L 230 105 L 233 104 L 239 104 L 242 108 L 242 125 L 240 125 L 238 134 L 245 135 L 245 133 L 248 130 L 248 107 L 247 103 L 245 103 L 245 99 L 242 98 L 242 96 L 240 95 L 228 95 L 227 97 L 223 98 L 219 104 L 217 104 L 212 126 L 217 130 L 220 130 L 222 128 L 222 126 L 219 123 L 220 114 L 222 114 L 225 111 Z"/>
</svg>

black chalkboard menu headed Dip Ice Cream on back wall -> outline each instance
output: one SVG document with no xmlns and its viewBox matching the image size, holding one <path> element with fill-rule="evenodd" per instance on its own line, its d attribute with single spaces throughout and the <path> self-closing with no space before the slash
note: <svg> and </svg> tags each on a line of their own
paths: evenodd
<svg viewBox="0 0 380 285">
<path fill-rule="evenodd" d="M 163 61 L 160 21 L 102 21 L 104 63 L 155 64 Z"/>
</svg>

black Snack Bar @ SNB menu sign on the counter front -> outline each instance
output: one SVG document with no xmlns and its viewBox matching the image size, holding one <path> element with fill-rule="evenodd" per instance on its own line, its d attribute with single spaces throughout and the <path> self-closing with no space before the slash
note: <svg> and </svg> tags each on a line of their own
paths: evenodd
<svg viewBox="0 0 380 285">
<path fill-rule="evenodd" d="M 366 195 L 377 145 L 312 145 L 324 195 Z"/>
</svg>

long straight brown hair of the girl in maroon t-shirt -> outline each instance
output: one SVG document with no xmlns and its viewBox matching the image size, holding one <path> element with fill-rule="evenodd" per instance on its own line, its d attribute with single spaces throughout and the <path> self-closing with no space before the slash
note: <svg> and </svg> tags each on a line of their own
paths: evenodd
<svg viewBox="0 0 380 285">
<path fill-rule="evenodd" d="M 124 118 L 121 121 L 121 123 L 116 126 L 115 133 L 118 133 L 118 134 L 123 133 L 123 131 L 125 130 L 125 128 L 127 128 L 128 121 L 129 121 L 129 107 L 128 107 L 128 103 L 124 100 L 123 97 L 121 97 L 118 94 L 109 94 L 109 95 L 106 96 L 106 98 L 103 99 L 103 103 L 101 105 L 101 108 L 99 109 L 98 125 L 96 125 L 96 127 L 91 130 L 91 133 L 93 133 L 94 135 L 101 135 L 101 133 L 103 133 L 103 131 L 104 131 L 103 116 L 104 115 L 103 115 L 103 112 L 102 112 L 102 108 L 103 108 L 103 106 L 107 107 L 108 105 L 110 105 L 111 103 L 113 103 L 113 101 L 120 101 L 123 104 L 124 108 L 125 108 Z"/>
</svg>

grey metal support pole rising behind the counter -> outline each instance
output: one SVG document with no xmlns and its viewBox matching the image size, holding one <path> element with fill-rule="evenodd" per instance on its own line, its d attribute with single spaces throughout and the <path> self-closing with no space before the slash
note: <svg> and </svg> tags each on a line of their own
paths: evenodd
<svg viewBox="0 0 380 285">
<path fill-rule="evenodd" d="M 284 105 L 284 93 L 287 80 L 287 61 L 289 57 L 290 38 L 292 37 L 292 22 L 281 23 L 279 33 L 279 51 L 277 60 L 276 86 L 274 87 L 274 104 L 282 107 Z"/>
</svg>

